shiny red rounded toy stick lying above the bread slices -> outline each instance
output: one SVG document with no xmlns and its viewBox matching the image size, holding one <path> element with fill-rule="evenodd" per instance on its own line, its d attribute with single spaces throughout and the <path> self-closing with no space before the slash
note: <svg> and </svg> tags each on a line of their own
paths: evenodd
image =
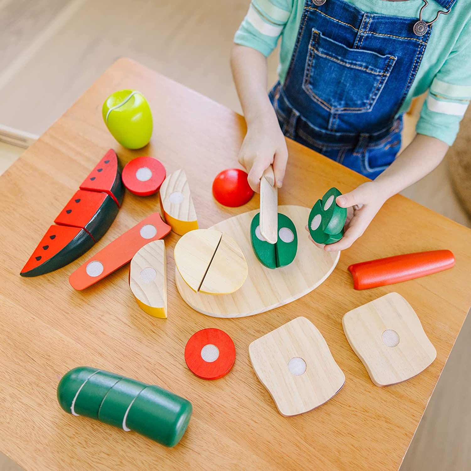
<svg viewBox="0 0 471 471">
<path fill-rule="evenodd" d="M 366 290 L 431 275 L 455 266 L 449 250 L 407 253 L 349 266 L 356 290 Z"/>
</svg>

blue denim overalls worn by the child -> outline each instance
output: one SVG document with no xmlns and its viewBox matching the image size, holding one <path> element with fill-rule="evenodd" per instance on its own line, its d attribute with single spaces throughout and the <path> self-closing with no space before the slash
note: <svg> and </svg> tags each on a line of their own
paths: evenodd
<svg viewBox="0 0 471 471">
<path fill-rule="evenodd" d="M 456 0 L 436 1 L 449 10 Z M 396 116 L 429 25 L 365 13 L 345 0 L 306 0 L 284 85 L 269 93 L 284 135 L 377 177 L 401 146 Z"/>
</svg>

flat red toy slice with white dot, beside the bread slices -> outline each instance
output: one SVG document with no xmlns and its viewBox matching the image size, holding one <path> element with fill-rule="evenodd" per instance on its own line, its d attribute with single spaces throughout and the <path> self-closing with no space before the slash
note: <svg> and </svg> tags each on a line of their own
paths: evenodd
<svg viewBox="0 0 471 471">
<path fill-rule="evenodd" d="M 187 341 L 185 361 L 199 378 L 217 380 L 229 373 L 234 365 L 234 342 L 222 330 L 200 330 Z"/>
</svg>

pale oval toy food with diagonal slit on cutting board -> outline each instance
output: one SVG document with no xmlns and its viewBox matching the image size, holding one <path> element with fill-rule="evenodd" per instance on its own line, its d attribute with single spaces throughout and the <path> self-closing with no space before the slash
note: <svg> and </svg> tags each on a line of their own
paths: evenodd
<svg viewBox="0 0 471 471">
<path fill-rule="evenodd" d="M 195 292 L 235 292 L 247 277 L 247 262 L 240 247 L 220 231 L 188 232 L 175 245 L 173 255 L 180 275 Z"/>
</svg>

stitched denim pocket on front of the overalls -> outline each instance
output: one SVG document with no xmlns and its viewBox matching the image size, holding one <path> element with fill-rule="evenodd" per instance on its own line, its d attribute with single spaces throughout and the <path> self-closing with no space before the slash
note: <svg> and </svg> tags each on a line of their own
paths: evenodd
<svg viewBox="0 0 471 471">
<path fill-rule="evenodd" d="M 327 111 L 370 111 L 397 57 L 350 49 L 312 30 L 302 88 Z"/>
</svg>

